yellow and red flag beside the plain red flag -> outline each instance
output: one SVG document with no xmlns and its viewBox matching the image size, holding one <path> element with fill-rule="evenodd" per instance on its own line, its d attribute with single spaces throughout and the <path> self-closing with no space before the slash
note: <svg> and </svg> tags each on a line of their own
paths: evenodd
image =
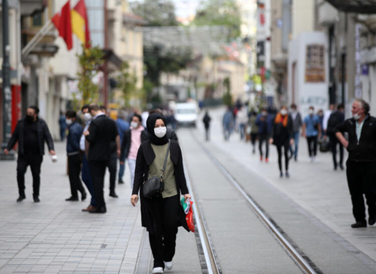
<svg viewBox="0 0 376 274">
<path fill-rule="evenodd" d="M 86 48 L 90 47 L 90 32 L 89 20 L 86 13 L 86 6 L 84 0 L 79 0 L 76 6 L 72 9 L 72 30 L 77 37 L 82 41 Z"/>
</svg>

